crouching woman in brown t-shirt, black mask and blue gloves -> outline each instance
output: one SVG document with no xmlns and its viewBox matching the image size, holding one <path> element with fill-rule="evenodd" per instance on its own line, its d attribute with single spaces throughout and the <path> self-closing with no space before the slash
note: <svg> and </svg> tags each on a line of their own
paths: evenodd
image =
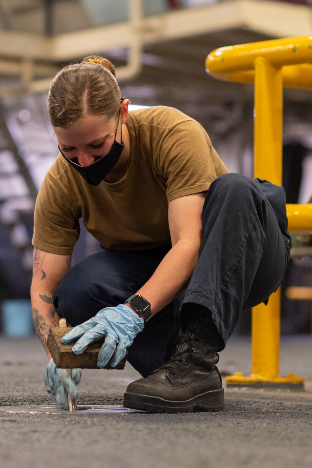
<svg viewBox="0 0 312 468">
<path fill-rule="evenodd" d="M 128 360 L 143 379 L 130 408 L 219 410 L 216 364 L 242 308 L 281 283 L 290 236 L 281 187 L 228 174 L 203 127 L 180 111 L 128 114 L 114 66 L 91 56 L 51 83 L 60 154 L 39 191 L 33 237 L 33 317 L 58 406 L 81 370 L 57 370 L 46 348 L 60 317 L 80 354 L 105 336 L 98 366 Z M 268 198 L 265 197 L 267 193 Z M 273 208 L 274 210 L 273 210 Z M 102 250 L 72 269 L 79 219 Z M 181 329 L 180 329 L 181 327 Z"/>
</svg>

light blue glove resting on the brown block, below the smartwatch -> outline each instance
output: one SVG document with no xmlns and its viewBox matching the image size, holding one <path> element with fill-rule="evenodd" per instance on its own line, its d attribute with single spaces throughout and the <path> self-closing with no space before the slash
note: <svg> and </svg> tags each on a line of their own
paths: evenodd
<svg viewBox="0 0 312 468">
<path fill-rule="evenodd" d="M 110 365 L 115 367 L 126 355 L 126 349 L 131 346 L 134 337 L 143 329 L 143 319 L 130 307 L 120 304 L 100 310 L 95 317 L 66 333 L 61 342 L 67 344 L 81 336 L 73 346 L 73 352 L 81 354 L 88 344 L 105 337 L 97 357 L 97 366 L 106 366 L 112 357 Z"/>
</svg>

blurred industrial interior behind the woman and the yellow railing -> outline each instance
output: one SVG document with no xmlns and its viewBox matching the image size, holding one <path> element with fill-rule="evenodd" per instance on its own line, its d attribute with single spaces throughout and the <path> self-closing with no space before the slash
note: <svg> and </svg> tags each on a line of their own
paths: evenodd
<svg viewBox="0 0 312 468">
<path fill-rule="evenodd" d="M 306 0 L 0 0 L 0 330 L 33 333 L 29 285 L 36 194 L 58 154 L 45 116 L 51 79 L 90 54 L 116 66 L 133 106 L 173 106 L 206 129 L 231 172 L 253 176 L 253 86 L 217 81 L 204 61 L 218 47 L 312 34 Z M 287 203 L 312 196 L 312 94 L 284 89 Z M 312 232 L 294 234 L 283 281 L 282 334 L 311 334 Z M 73 262 L 99 248 L 82 227 Z M 235 333 L 250 333 L 250 311 Z"/>
</svg>

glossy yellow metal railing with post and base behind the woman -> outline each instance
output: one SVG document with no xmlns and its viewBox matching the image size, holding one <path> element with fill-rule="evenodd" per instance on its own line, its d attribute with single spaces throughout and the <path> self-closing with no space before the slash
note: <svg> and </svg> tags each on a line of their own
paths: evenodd
<svg viewBox="0 0 312 468">
<path fill-rule="evenodd" d="M 312 89 L 312 37 L 233 45 L 212 51 L 206 71 L 220 80 L 254 83 L 254 177 L 282 185 L 283 86 Z M 286 205 L 290 231 L 312 230 L 312 204 Z M 252 374 L 227 385 L 303 388 L 304 379 L 279 374 L 280 288 L 252 312 Z"/>
</svg>

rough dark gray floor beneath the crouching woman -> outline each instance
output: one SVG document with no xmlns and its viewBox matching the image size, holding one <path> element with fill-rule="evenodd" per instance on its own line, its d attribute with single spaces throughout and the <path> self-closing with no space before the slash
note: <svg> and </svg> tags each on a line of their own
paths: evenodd
<svg viewBox="0 0 312 468">
<path fill-rule="evenodd" d="M 312 380 L 312 337 L 285 337 L 281 373 Z M 293 468 L 312 466 L 312 386 L 301 394 L 226 391 L 225 410 L 190 414 L 10 414 L 6 405 L 53 404 L 41 344 L 0 337 L 1 468 Z M 250 340 L 220 353 L 224 373 L 250 373 Z M 85 370 L 80 404 L 121 404 L 124 371 Z M 310 391 L 311 390 L 311 391 Z"/>
</svg>

